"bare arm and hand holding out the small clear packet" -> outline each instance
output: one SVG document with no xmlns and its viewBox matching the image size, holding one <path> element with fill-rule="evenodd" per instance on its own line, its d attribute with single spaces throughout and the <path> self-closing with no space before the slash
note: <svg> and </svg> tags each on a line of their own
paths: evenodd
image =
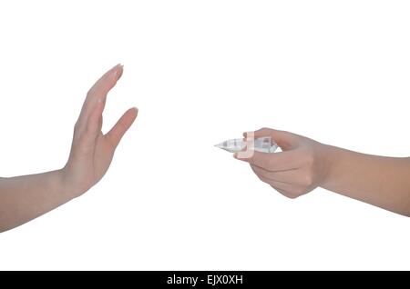
<svg viewBox="0 0 410 289">
<path fill-rule="evenodd" d="M 302 135 L 261 128 L 254 138 L 271 136 L 282 152 L 234 154 L 251 165 L 262 182 L 296 198 L 323 187 L 329 191 L 410 216 L 410 158 L 359 154 L 323 145 Z M 245 133 L 247 142 L 252 135 Z"/>
</svg>

